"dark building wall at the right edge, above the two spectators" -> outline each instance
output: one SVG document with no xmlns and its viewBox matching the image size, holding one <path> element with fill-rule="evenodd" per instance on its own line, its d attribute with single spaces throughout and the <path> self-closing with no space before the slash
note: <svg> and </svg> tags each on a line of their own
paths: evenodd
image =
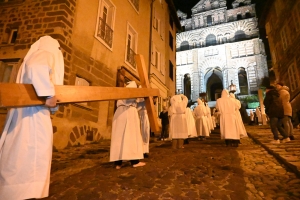
<svg viewBox="0 0 300 200">
<path fill-rule="evenodd" d="M 268 0 L 263 13 L 275 81 L 289 87 L 293 114 L 300 116 L 300 1 Z"/>
</svg>

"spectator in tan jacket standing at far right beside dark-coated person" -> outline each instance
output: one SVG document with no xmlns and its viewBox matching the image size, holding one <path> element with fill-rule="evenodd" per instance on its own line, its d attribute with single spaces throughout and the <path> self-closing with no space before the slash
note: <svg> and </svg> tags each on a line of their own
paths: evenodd
<svg viewBox="0 0 300 200">
<path fill-rule="evenodd" d="M 290 103 L 289 88 L 287 86 L 284 86 L 282 83 L 277 83 L 276 89 L 279 92 L 280 99 L 283 105 L 284 116 L 282 119 L 282 123 L 283 123 L 285 133 L 289 136 L 286 139 L 286 142 L 288 142 L 290 140 L 295 139 L 293 134 L 293 124 L 292 124 L 293 109 Z"/>
</svg>

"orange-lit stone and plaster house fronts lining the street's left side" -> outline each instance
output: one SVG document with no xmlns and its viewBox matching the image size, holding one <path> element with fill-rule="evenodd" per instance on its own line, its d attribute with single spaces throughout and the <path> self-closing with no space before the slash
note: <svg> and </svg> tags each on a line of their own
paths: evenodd
<svg viewBox="0 0 300 200">
<path fill-rule="evenodd" d="M 169 23 L 164 24 L 162 43 L 165 45 L 162 44 L 161 51 L 169 56 L 168 61 L 175 62 L 175 51 L 169 52 L 166 47 L 169 46 L 169 31 L 172 30 L 175 38 L 180 24 L 173 2 L 160 0 L 159 3 L 164 8 L 161 21 L 173 20 L 174 25 L 172 29 Z M 31 44 L 43 35 L 52 36 L 61 45 L 66 85 L 116 87 L 128 80 L 138 82 L 135 54 L 143 55 L 149 74 L 155 74 L 149 69 L 153 41 L 151 16 L 152 0 L 0 1 L 0 82 L 15 81 Z M 176 22 L 179 25 L 176 26 Z M 168 74 L 168 69 L 164 67 L 160 73 Z M 158 80 L 166 91 L 173 87 L 175 92 L 175 82 L 166 77 Z M 153 85 L 153 81 L 150 82 Z M 52 116 L 54 146 L 65 148 L 109 139 L 114 110 L 115 101 L 60 106 Z M 1 125 L 5 114 L 2 109 Z"/>
</svg>

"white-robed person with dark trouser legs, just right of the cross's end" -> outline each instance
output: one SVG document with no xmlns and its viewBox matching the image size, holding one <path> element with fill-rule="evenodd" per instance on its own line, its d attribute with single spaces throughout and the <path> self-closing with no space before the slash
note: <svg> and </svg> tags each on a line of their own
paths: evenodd
<svg viewBox="0 0 300 200">
<path fill-rule="evenodd" d="M 188 138 L 188 128 L 186 119 L 186 106 L 188 98 L 183 94 L 174 95 L 171 98 L 170 111 L 170 139 L 172 139 L 172 147 L 184 148 L 183 140 Z"/>
</svg>

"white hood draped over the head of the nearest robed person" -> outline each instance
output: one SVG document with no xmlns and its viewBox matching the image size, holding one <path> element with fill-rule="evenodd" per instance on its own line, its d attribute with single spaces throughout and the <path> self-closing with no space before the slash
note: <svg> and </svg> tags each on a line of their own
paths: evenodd
<svg viewBox="0 0 300 200">
<path fill-rule="evenodd" d="M 24 74 L 25 64 L 31 55 L 38 50 L 44 50 L 50 52 L 54 57 L 54 66 L 51 66 L 52 72 L 50 78 L 54 85 L 63 85 L 64 83 L 64 57 L 60 50 L 60 45 L 56 39 L 51 36 L 43 36 L 34 44 L 31 45 L 27 52 L 23 63 L 19 69 L 17 76 L 17 83 L 22 83 L 22 77 Z"/>
</svg>

